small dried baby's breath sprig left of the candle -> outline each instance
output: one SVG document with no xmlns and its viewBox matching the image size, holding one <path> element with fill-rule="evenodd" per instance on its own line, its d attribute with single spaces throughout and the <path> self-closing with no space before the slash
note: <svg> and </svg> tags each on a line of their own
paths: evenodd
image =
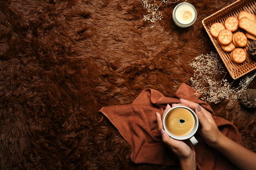
<svg viewBox="0 0 256 170">
<path fill-rule="evenodd" d="M 177 0 L 175 2 L 169 2 L 169 0 L 162 0 L 160 4 L 158 5 L 155 0 L 141 0 L 141 3 L 145 9 L 147 9 L 148 13 L 147 15 L 143 16 L 144 21 L 150 22 L 150 28 L 155 27 L 155 22 L 157 20 L 162 20 L 162 12 L 157 11 L 159 7 L 162 5 L 162 3 L 176 3 L 180 0 Z M 185 1 L 186 2 L 186 1 Z"/>
</svg>

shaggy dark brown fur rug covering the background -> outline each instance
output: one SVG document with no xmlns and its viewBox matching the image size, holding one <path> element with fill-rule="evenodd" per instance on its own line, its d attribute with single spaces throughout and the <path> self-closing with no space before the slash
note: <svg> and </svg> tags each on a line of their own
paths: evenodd
<svg viewBox="0 0 256 170">
<path fill-rule="evenodd" d="M 170 169 L 132 163 L 130 146 L 98 110 L 130 104 L 145 88 L 171 97 L 191 84 L 189 61 L 215 51 L 203 18 L 234 0 L 189 2 L 198 10 L 193 26 L 174 25 L 176 3 L 163 4 L 150 29 L 139 0 L 0 1 L 0 168 Z M 211 106 L 256 151 L 255 111 L 239 101 Z"/>
</svg>

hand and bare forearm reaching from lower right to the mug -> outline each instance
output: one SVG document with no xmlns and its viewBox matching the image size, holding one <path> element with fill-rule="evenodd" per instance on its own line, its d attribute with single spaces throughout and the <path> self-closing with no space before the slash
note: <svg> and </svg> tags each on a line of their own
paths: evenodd
<svg viewBox="0 0 256 170">
<path fill-rule="evenodd" d="M 202 128 L 199 133 L 207 144 L 222 152 L 231 162 L 241 170 L 255 170 L 256 153 L 252 152 L 223 135 L 218 129 L 211 113 L 194 102 L 181 99 L 182 104 L 173 104 L 173 106 L 185 105 L 195 110 Z"/>
</svg>

